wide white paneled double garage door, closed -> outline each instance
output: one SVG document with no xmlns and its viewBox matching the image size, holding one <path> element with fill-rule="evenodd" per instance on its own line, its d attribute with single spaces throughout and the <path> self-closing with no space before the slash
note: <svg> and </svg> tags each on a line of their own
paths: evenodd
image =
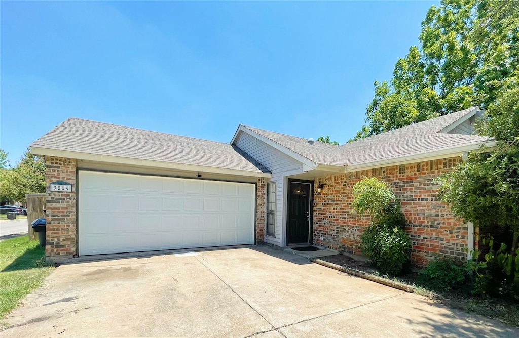
<svg viewBox="0 0 519 338">
<path fill-rule="evenodd" d="M 79 255 L 253 244 L 254 188 L 80 171 Z"/>
</svg>

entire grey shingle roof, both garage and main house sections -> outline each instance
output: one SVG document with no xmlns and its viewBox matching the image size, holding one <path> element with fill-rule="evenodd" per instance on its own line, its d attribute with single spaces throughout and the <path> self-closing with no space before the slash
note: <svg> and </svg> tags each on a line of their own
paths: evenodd
<svg viewBox="0 0 519 338">
<path fill-rule="evenodd" d="M 342 146 L 317 141 L 310 144 L 303 137 L 250 126 L 243 128 L 318 164 L 368 165 L 488 141 L 488 137 L 479 135 L 440 133 L 468 114 L 473 115 L 474 109 L 477 111 L 477 107 L 461 110 Z M 38 138 L 31 147 L 270 173 L 235 145 L 77 118 L 67 119 Z"/>
</svg>

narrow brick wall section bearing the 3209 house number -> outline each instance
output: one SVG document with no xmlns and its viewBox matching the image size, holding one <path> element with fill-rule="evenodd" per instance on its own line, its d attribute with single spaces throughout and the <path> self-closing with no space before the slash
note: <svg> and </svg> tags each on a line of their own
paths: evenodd
<svg viewBox="0 0 519 338">
<path fill-rule="evenodd" d="M 75 159 L 45 157 L 47 165 L 47 227 L 45 255 L 48 260 L 76 254 L 76 168 Z M 49 184 L 63 180 L 72 192 L 50 192 Z"/>
</svg>

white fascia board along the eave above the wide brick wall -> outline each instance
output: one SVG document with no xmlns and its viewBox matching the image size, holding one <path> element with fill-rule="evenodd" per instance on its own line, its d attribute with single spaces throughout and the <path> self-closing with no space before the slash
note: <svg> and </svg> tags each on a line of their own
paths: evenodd
<svg viewBox="0 0 519 338">
<path fill-rule="evenodd" d="M 481 145 L 485 145 L 486 147 L 494 147 L 496 145 L 496 142 L 494 140 L 492 140 L 492 141 L 482 142 L 480 144 L 472 144 L 472 145 L 461 146 L 461 147 L 457 147 L 457 148 L 449 148 L 449 149 L 442 149 L 442 150 L 437 150 L 437 151 L 432 151 L 432 152 L 413 154 L 413 155 L 409 155 L 409 156 L 403 156 L 400 158 L 392 158 L 392 159 L 387 159 L 387 160 L 383 160 L 383 161 L 362 163 L 362 164 L 356 164 L 356 165 L 348 165 L 348 166 L 346 166 L 345 172 L 349 173 L 349 172 L 355 172 L 355 171 L 359 171 L 359 170 L 380 168 L 380 167 L 384 167 L 384 166 L 388 166 L 388 165 L 400 165 L 400 164 L 407 164 L 407 163 L 413 163 L 413 162 L 444 159 L 447 157 L 462 156 L 464 152 L 477 150 L 480 148 Z"/>
</svg>

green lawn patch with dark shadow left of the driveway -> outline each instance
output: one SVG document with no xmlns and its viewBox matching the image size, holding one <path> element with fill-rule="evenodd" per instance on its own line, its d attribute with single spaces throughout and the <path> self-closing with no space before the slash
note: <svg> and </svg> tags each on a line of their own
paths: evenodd
<svg viewBox="0 0 519 338">
<path fill-rule="evenodd" d="M 0 319 L 53 270 L 38 241 L 22 236 L 0 242 Z"/>
</svg>

